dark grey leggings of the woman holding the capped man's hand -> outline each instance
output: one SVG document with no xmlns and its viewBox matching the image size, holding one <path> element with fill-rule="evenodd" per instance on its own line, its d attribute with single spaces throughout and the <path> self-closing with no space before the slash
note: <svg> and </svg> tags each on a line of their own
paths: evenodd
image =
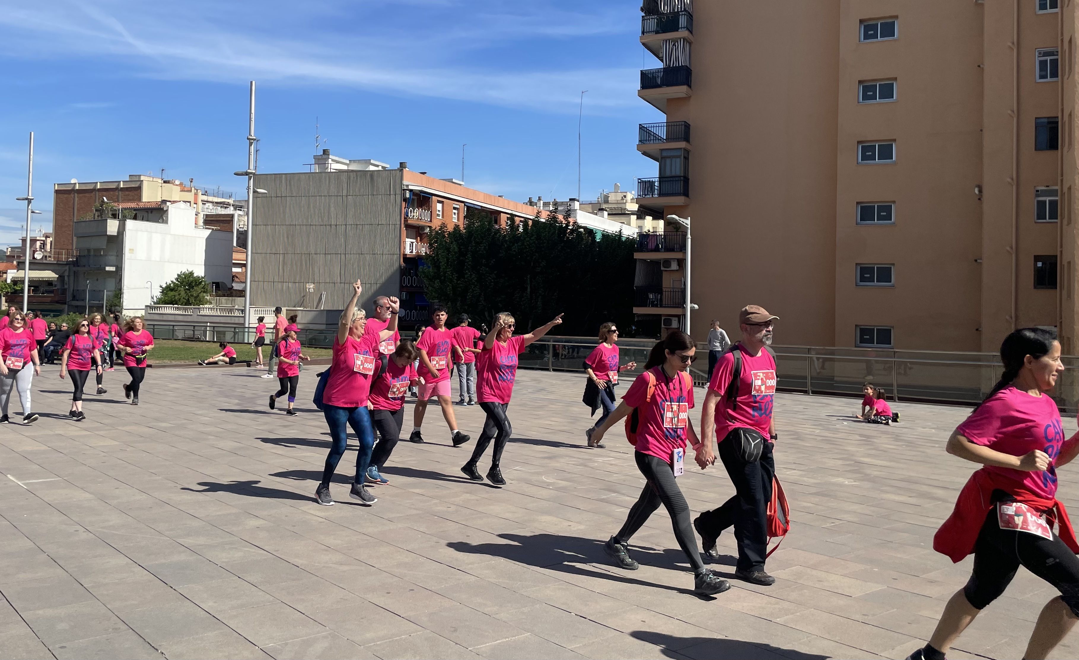
<svg viewBox="0 0 1079 660">
<path fill-rule="evenodd" d="M 637 467 L 648 480 L 641 491 L 641 496 L 633 504 L 626 517 L 626 524 L 615 534 L 614 539 L 619 544 L 627 544 L 633 534 L 641 528 L 641 525 L 648 520 L 648 517 L 663 504 L 667 507 L 667 513 L 671 517 L 671 525 L 674 527 L 674 538 L 682 547 L 689 560 L 689 566 L 694 572 L 705 567 L 704 560 L 700 559 L 700 551 L 697 549 L 697 537 L 693 535 L 693 527 L 689 526 L 689 505 L 682 495 L 682 490 L 678 487 L 674 479 L 674 470 L 669 463 L 663 458 L 656 458 L 641 452 L 633 452 Z"/>
</svg>

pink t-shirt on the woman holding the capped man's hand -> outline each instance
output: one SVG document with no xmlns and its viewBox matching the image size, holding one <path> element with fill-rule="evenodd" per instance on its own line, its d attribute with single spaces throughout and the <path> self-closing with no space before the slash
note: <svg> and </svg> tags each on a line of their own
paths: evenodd
<svg viewBox="0 0 1079 660">
<path fill-rule="evenodd" d="M 622 400 L 637 409 L 637 451 L 642 454 L 671 462 L 675 449 L 685 449 L 688 438 L 689 409 L 693 408 L 693 383 L 681 372 L 673 379 L 667 377 L 663 367 L 648 371 L 656 379 L 648 396 L 647 372 L 637 376 Z"/>
</svg>

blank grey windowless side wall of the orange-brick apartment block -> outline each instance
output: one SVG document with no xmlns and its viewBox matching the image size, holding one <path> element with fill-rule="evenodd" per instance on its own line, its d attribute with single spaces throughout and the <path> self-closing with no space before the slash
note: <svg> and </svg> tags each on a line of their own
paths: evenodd
<svg viewBox="0 0 1079 660">
<path fill-rule="evenodd" d="M 399 295 L 401 171 L 265 174 L 255 187 L 251 305 L 325 310 L 349 302 L 364 283 L 364 307 Z M 305 285 L 315 285 L 314 293 Z"/>
</svg>

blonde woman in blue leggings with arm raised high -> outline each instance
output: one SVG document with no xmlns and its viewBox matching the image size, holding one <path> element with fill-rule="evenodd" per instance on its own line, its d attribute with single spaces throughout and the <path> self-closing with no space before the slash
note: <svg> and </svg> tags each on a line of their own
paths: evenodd
<svg viewBox="0 0 1079 660">
<path fill-rule="evenodd" d="M 356 452 L 356 478 L 349 496 L 367 506 L 378 501 L 378 498 L 364 487 L 367 468 L 371 463 L 371 449 L 374 445 L 371 413 L 367 404 L 371 394 L 371 376 L 374 375 L 374 363 L 378 361 L 379 343 L 390 339 L 397 331 L 400 301 L 396 298 L 390 299 L 390 322 L 384 330 L 365 333 L 367 315 L 363 307 L 356 307 L 364 287 L 357 279 L 352 288 L 352 300 L 345 305 L 338 320 L 338 332 L 333 338 L 333 361 L 323 390 L 323 414 L 330 427 L 333 444 L 330 446 L 329 455 L 326 456 L 326 468 L 323 470 L 322 483 L 315 489 L 315 499 L 326 506 L 333 504 L 333 498 L 330 497 L 330 480 L 341 456 L 344 455 L 350 426 L 356 431 L 359 451 Z"/>
</svg>

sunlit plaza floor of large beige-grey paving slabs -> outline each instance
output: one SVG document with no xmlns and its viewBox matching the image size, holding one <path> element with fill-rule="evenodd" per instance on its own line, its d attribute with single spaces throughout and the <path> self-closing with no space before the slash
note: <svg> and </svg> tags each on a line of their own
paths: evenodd
<svg viewBox="0 0 1079 660">
<path fill-rule="evenodd" d="M 973 468 L 943 450 L 969 408 L 898 403 L 883 427 L 857 399 L 777 395 L 777 582 L 735 580 L 728 556 L 733 589 L 700 599 L 663 509 L 632 540 L 639 570 L 606 561 L 642 479 L 620 429 L 583 446 L 582 376 L 519 373 L 505 489 L 463 478 L 472 443 L 431 407 L 373 507 L 346 496 L 354 446 L 322 507 L 319 370 L 297 417 L 267 409 L 276 380 L 254 369 L 150 370 L 138 408 L 118 370 L 77 423 L 46 368 L 42 418 L 0 426 L 0 658 L 904 658 L 969 575 L 931 550 Z M 479 407 L 456 414 L 475 438 Z M 1079 471 L 1061 478 L 1079 510 Z M 722 465 L 679 482 L 694 514 L 733 494 Z M 1020 569 L 950 657 L 1021 657 L 1053 595 Z M 1079 657 L 1079 633 L 1053 657 Z"/>
</svg>

